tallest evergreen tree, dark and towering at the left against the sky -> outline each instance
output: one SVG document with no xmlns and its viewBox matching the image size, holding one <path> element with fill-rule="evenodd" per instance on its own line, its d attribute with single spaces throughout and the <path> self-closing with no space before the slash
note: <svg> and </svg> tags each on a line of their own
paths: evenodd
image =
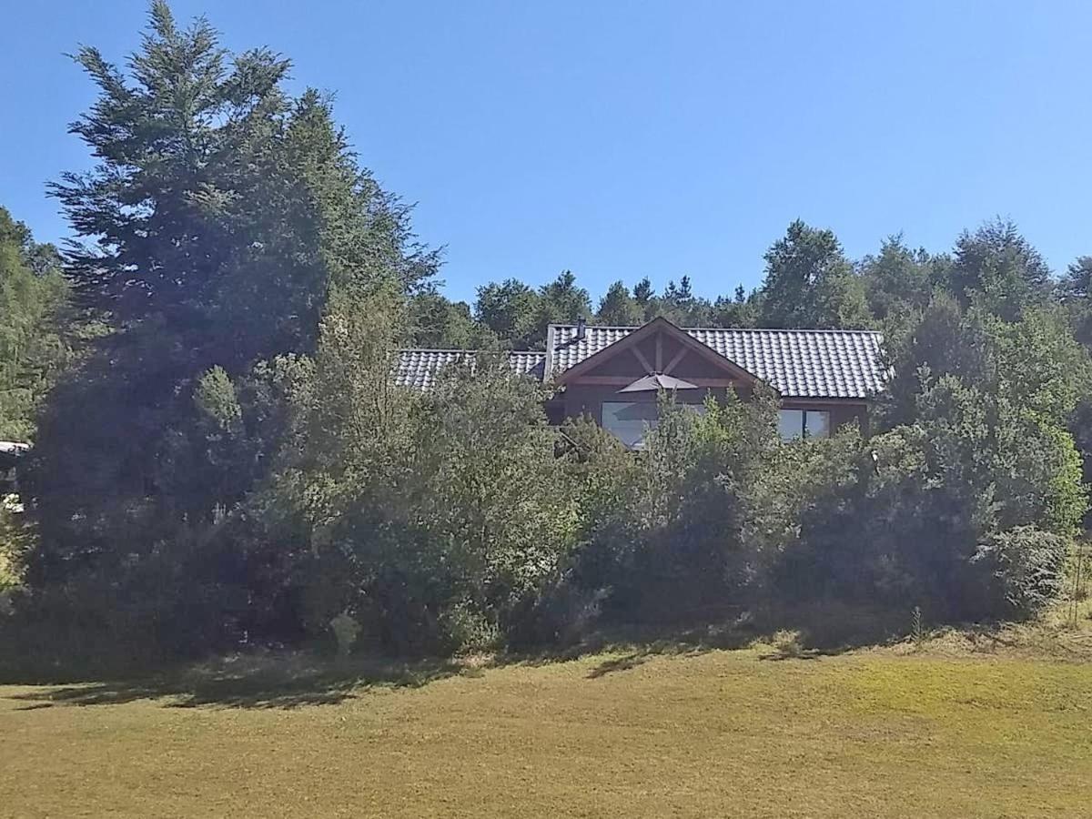
<svg viewBox="0 0 1092 819">
<path fill-rule="evenodd" d="M 98 98 L 72 130 L 99 164 L 52 190 L 78 236 L 76 293 L 112 332 L 43 416 L 27 482 L 38 580 L 150 551 L 230 509 L 264 455 L 216 451 L 195 401 L 205 373 L 238 381 L 307 353 L 331 288 L 410 292 L 436 262 L 329 102 L 285 93 L 287 60 L 230 55 L 206 22 L 180 28 L 154 2 L 128 71 L 94 48 L 76 61 Z M 233 479 L 211 480 L 211 463 Z"/>
</svg>

